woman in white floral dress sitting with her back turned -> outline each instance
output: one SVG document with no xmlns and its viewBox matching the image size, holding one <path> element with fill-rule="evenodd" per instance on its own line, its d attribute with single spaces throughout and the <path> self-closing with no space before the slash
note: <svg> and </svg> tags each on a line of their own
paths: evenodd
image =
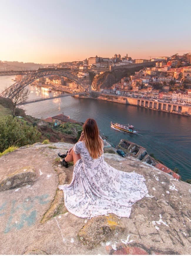
<svg viewBox="0 0 191 256">
<path fill-rule="evenodd" d="M 129 217 L 131 206 L 147 193 L 145 179 L 135 172 L 122 172 L 103 159 L 103 143 L 94 119 L 87 119 L 79 141 L 65 157 L 74 162 L 71 184 L 59 186 L 69 212 L 92 218 L 114 213 Z"/>
</svg>

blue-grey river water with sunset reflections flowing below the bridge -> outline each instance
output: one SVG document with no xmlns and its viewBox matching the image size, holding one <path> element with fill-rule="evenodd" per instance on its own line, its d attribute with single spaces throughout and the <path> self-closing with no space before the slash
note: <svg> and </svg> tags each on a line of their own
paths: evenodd
<svg viewBox="0 0 191 256">
<path fill-rule="evenodd" d="M 0 77 L 0 92 L 14 82 L 14 77 Z M 53 96 L 57 91 L 48 93 L 34 86 L 28 86 L 29 99 L 41 95 Z M 191 179 L 191 118 L 144 109 L 131 105 L 104 102 L 96 99 L 64 97 L 21 106 L 26 114 L 37 118 L 52 117 L 62 112 L 70 118 L 84 122 L 91 117 L 96 119 L 100 134 L 117 145 L 120 139 L 127 139 L 145 147 L 167 167 L 178 167 L 182 179 Z M 138 134 L 128 134 L 114 130 L 110 122 L 132 124 Z"/>
</svg>

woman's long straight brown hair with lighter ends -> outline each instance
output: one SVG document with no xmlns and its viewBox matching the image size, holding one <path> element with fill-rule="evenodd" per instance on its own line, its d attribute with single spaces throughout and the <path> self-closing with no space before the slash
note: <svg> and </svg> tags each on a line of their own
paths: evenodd
<svg viewBox="0 0 191 256">
<path fill-rule="evenodd" d="M 103 142 L 99 137 L 99 129 L 94 119 L 88 118 L 83 125 L 86 147 L 93 159 L 103 154 Z"/>
</svg>

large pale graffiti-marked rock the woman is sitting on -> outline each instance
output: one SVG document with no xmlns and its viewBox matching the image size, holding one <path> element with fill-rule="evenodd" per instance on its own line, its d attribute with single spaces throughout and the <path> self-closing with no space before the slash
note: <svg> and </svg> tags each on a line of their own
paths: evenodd
<svg viewBox="0 0 191 256">
<path fill-rule="evenodd" d="M 148 195 L 132 206 L 129 218 L 111 215 L 113 225 L 110 215 L 78 218 L 58 190 L 71 182 L 73 167 L 61 166 L 57 152 L 71 146 L 36 143 L 0 157 L 1 179 L 29 165 L 37 175 L 30 184 L 0 192 L 0 254 L 190 254 L 190 184 L 133 157 L 106 153 L 111 166 L 142 174 Z"/>
</svg>

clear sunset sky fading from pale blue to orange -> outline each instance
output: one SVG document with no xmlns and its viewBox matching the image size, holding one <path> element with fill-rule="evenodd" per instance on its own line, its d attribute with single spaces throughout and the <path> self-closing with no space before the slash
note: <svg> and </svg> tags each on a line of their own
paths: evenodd
<svg viewBox="0 0 191 256">
<path fill-rule="evenodd" d="M 0 0 L 0 60 L 59 63 L 191 51 L 190 0 Z"/>
</svg>

